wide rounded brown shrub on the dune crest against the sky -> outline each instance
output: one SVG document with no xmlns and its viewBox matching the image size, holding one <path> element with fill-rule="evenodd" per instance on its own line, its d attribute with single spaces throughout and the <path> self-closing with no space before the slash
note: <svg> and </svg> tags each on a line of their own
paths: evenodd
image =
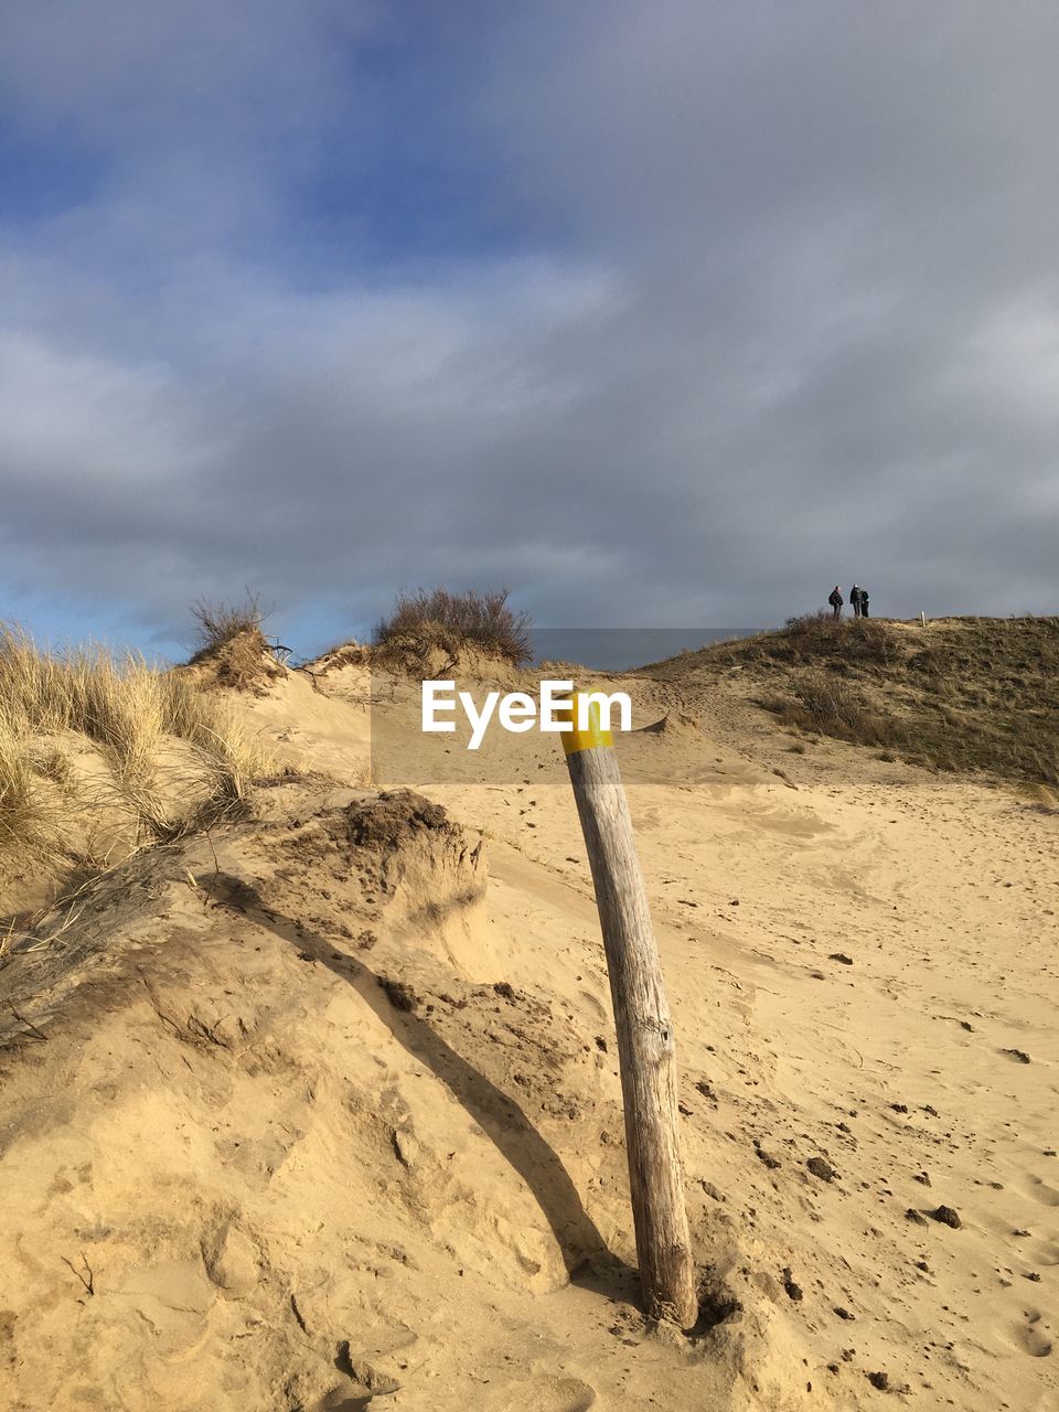
<svg viewBox="0 0 1059 1412">
<path fill-rule="evenodd" d="M 450 593 L 418 589 L 400 593 L 390 617 L 374 633 L 376 645 L 402 655 L 425 655 L 439 647 L 455 657 L 473 645 L 515 666 L 532 657 L 530 616 L 507 606 L 508 590 Z"/>
</svg>

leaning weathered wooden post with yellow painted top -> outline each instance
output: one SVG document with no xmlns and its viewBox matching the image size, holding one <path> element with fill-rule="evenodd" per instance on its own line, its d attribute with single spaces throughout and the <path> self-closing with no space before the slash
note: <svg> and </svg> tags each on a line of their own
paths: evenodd
<svg viewBox="0 0 1059 1412">
<path fill-rule="evenodd" d="M 596 884 L 617 1027 L 640 1282 L 647 1313 L 690 1329 L 699 1313 L 676 1138 L 676 1052 L 633 820 L 614 741 L 590 703 L 589 729 L 562 736 Z"/>
</svg>

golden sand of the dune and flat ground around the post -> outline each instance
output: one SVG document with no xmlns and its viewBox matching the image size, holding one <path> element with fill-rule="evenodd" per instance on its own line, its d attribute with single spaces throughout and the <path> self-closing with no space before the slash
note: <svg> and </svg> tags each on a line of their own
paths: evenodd
<svg viewBox="0 0 1059 1412">
<path fill-rule="evenodd" d="M 638 1312 L 561 754 L 442 761 L 391 688 L 247 698 L 312 774 L 6 957 L 0 1405 L 1059 1406 L 1059 816 L 630 683 L 685 1337 Z"/>
</svg>

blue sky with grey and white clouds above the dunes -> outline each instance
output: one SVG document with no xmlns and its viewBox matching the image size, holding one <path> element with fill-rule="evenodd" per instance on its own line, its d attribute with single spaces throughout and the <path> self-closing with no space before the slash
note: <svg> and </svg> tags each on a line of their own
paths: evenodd
<svg viewBox="0 0 1059 1412">
<path fill-rule="evenodd" d="M 0 0 L 0 617 L 1059 611 L 1053 0 Z"/>
</svg>

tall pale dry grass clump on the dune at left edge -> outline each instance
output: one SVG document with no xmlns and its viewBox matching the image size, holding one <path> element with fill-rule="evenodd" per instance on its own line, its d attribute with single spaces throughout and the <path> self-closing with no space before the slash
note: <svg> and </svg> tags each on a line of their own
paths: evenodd
<svg viewBox="0 0 1059 1412">
<path fill-rule="evenodd" d="M 78 798 L 61 744 L 69 733 L 106 761 L 113 784 L 103 802 L 123 810 L 144 842 L 239 816 L 251 777 L 268 768 L 233 714 L 186 676 L 134 654 L 45 652 L 21 628 L 3 626 L 0 854 L 55 861 L 64 815 L 100 802 Z M 174 743 L 185 747 L 184 777 L 165 760 Z"/>
</svg>

